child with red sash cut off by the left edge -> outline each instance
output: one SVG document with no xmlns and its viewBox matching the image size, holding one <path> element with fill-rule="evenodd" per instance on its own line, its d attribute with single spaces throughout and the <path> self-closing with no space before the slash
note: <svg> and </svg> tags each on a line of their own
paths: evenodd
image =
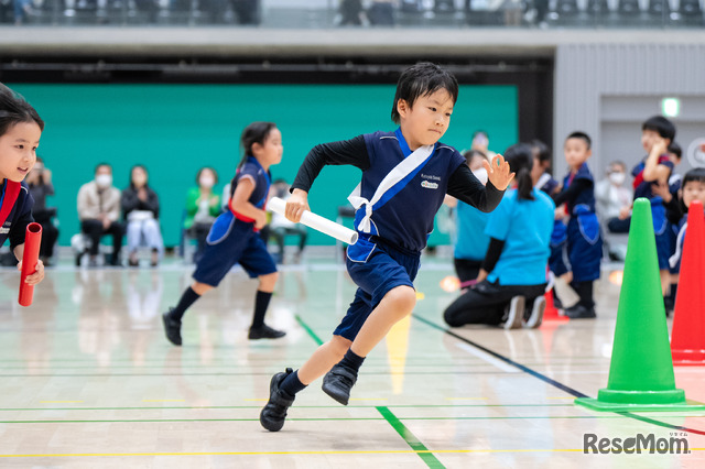
<svg viewBox="0 0 705 469">
<path fill-rule="evenodd" d="M 29 102 L 0 84 L 0 246 L 10 238 L 10 250 L 22 270 L 24 234 L 32 218 L 34 199 L 24 177 L 36 163 L 36 148 L 44 121 Z M 44 279 L 44 264 L 36 262 L 36 272 L 25 283 L 36 285 Z"/>
</svg>

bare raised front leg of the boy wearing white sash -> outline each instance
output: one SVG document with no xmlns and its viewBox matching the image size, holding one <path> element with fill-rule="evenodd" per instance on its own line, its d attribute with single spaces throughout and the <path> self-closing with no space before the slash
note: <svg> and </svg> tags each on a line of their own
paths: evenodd
<svg viewBox="0 0 705 469">
<path fill-rule="evenodd" d="M 411 314 L 415 305 L 416 291 L 411 286 L 400 285 L 390 290 L 365 321 L 350 350 L 367 357 L 394 324 Z"/>
</svg>

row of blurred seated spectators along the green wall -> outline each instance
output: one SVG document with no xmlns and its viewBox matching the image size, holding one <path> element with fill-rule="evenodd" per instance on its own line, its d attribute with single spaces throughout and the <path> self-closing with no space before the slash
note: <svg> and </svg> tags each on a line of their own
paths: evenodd
<svg viewBox="0 0 705 469">
<path fill-rule="evenodd" d="M 149 250 L 149 263 L 156 266 L 164 254 L 164 242 L 160 228 L 160 199 L 149 184 L 149 172 L 143 165 L 130 170 L 129 185 L 120 190 L 113 184 L 112 166 L 100 163 L 96 166 L 94 179 L 80 186 L 77 196 L 77 212 L 80 232 L 72 238 L 76 252 L 76 265 L 87 257 L 88 266 L 101 264 L 119 266 L 122 259 L 123 238 L 127 239 L 127 265 L 140 265 L 140 248 Z M 44 166 L 41 157 L 26 177 L 34 198 L 33 215 L 43 227 L 40 258 L 51 265 L 55 262 L 55 244 L 58 239 L 58 217 L 55 207 L 47 207 L 46 199 L 54 195 L 52 172 Z M 214 190 L 218 183 L 217 172 L 204 166 L 196 173 L 195 185 L 187 189 L 183 207 L 182 243 L 195 243 L 195 252 L 189 261 L 197 262 L 203 255 L 206 238 L 215 219 L 228 210 L 230 184 L 224 187 L 223 196 Z M 286 198 L 289 185 L 278 179 L 272 185 L 271 195 Z M 299 249 L 293 258 L 301 261 L 306 244 L 305 227 L 274 216 L 260 236 L 268 242 L 275 240 L 278 262 L 284 262 L 284 238 L 299 237 Z M 101 240 L 111 238 L 111 251 L 100 257 Z M 183 248 L 183 246 L 182 246 Z M 14 263 L 17 261 L 13 261 Z"/>
</svg>

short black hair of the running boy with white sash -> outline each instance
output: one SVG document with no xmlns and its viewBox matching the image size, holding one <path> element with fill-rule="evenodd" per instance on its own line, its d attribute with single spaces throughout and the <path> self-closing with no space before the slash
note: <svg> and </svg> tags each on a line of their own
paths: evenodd
<svg viewBox="0 0 705 469">
<path fill-rule="evenodd" d="M 403 99 L 413 108 L 414 102 L 422 96 L 433 95 L 445 89 L 451 95 L 453 103 L 458 99 L 458 80 L 445 68 L 430 62 L 420 62 L 402 72 L 397 81 L 397 94 L 392 105 L 392 121 L 399 123 L 401 117 L 397 103 Z"/>
</svg>

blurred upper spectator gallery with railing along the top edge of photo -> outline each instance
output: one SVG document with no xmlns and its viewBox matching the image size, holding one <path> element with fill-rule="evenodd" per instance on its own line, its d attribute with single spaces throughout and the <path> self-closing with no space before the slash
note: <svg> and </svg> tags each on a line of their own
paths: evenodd
<svg viewBox="0 0 705 469">
<path fill-rule="evenodd" d="M 702 28 L 705 0 L 0 0 L 18 25 Z"/>
</svg>

